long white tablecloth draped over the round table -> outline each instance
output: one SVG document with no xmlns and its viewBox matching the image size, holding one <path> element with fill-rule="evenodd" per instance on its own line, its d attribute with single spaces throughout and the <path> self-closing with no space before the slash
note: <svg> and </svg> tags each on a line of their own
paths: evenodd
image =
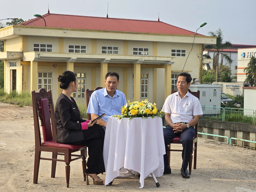
<svg viewBox="0 0 256 192">
<path fill-rule="evenodd" d="M 165 143 L 160 117 L 117 119 L 108 117 L 103 157 L 106 169 L 105 185 L 120 175 L 120 168 L 140 173 L 141 188 L 144 179 L 154 172 L 163 175 Z"/>
</svg>

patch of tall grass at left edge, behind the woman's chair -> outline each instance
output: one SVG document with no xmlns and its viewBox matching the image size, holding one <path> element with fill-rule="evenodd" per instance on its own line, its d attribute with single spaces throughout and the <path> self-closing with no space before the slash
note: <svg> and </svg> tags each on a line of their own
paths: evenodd
<svg viewBox="0 0 256 192">
<path fill-rule="evenodd" d="M 19 105 L 19 107 L 32 106 L 32 97 L 28 91 L 22 91 L 21 93 L 11 91 L 10 93 L 5 93 L 5 90 L 1 88 L 0 102 Z"/>
</svg>

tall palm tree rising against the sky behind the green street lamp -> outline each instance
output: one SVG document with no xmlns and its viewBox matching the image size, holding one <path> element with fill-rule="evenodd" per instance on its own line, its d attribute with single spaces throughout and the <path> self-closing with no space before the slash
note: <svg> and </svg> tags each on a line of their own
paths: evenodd
<svg viewBox="0 0 256 192">
<path fill-rule="evenodd" d="M 222 34 L 222 30 L 219 28 L 216 31 L 210 31 L 208 33 L 210 36 L 213 37 L 217 37 L 216 39 L 216 44 L 215 45 L 206 45 L 204 46 L 204 50 L 213 50 L 214 54 L 213 54 L 213 60 L 216 62 L 216 82 L 219 82 L 219 69 L 221 69 L 221 66 L 223 64 L 223 58 L 227 60 L 228 64 L 231 64 L 233 62 L 233 60 L 230 58 L 229 55 L 227 55 L 226 53 L 221 53 L 221 51 L 223 49 L 228 49 L 232 47 L 232 44 L 230 41 L 225 41 L 225 43 L 223 43 L 223 34 Z M 221 65 L 219 67 L 219 55 L 221 55 Z M 216 59 L 215 59 L 216 56 Z M 213 69 L 215 69 L 215 63 L 213 63 Z"/>
</svg>

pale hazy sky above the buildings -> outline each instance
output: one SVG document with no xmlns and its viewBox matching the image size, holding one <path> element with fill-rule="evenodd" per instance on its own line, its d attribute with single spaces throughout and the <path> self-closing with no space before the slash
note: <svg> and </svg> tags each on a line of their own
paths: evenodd
<svg viewBox="0 0 256 192">
<path fill-rule="evenodd" d="M 256 45 L 256 0 L 0 0 L 0 19 L 32 19 L 46 14 L 48 3 L 56 14 L 106 17 L 108 9 L 109 18 L 156 21 L 159 13 L 160 21 L 194 32 L 206 22 L 198 33 L 221 28 L 224 41 Z"/>
</svg>

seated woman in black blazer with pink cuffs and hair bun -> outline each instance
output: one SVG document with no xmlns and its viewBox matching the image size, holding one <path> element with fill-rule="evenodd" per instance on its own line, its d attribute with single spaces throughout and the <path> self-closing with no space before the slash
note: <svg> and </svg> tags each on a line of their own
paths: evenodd
<svg viewBox="0 0 256 192">
<path fill-rule="evenodd" d="M 105 172 L 103 144 L 105 131 L 102 126 L 80 118 L 75 100 L 71 97 L 78 88 L 75 73 L 65 71 L 59 75 L 60 88 L 63 89 L 55 105 L 58 143 L 84 145 L 88 147 L 87 169 L 85 174 L 93 178 L 94 185 L 102 185 L 103 180 L 97 174 Z"/>
</svg>

